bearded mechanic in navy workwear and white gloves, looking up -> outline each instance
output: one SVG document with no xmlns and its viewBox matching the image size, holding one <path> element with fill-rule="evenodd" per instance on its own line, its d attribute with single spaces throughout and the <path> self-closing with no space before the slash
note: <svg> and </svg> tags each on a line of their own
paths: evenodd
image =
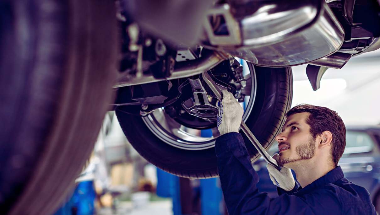
<svg viewBox="0 0 380 215">
<path fill-rule="evenodd" d="M 238 133 L 243 109 L 231 93 L 222 93 L 215 153 L 230 215 L 376 214 L 368 191 L 349 182 L 337 165 L 346 144 L 345 125 L 337 112 L 309 104 L 287 112 L 275 137 L 279 155 L 273 156 L 282 168 L 267 165 L 279 194 L 270 198 L 256 188 L 259 177 Z"/>
</svg>

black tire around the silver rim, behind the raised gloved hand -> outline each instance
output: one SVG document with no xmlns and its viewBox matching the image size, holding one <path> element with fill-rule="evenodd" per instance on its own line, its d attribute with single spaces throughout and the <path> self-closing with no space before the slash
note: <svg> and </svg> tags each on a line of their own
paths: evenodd
<svg viewBox="0 0 380 215">
<path fill-rule="evenodd" d="M 248 64 L 255 69 L 256 98 L 253 109 L 245 121 L 265 149 L 269 149 L 285 122 L 285 113 L 292 99 L 291 68 L 266 68 Z M 173 147 L 157 138 L 146 126 L 142 117 L 116 109 L 120 126 L 131 145 L 140 155 L 160 169 L 180 177 L 217 177 L 214 147 L 204 150 L 184 150 Z M 242 132 L 241 132 L 242 133 Z M 242 134 L 244 136 L 244 134 Z M 259 154 L 244 136 L 252 162 Z"/>
</svg>

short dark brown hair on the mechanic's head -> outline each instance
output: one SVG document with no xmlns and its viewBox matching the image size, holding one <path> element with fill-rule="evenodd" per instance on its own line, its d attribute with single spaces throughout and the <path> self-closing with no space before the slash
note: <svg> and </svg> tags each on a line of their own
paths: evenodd
<svg viewBox="0 0 380 215">
<path fill-rule="evenodd" d="M 309 113 L 306 123 L 310 126 L 310 133 L 315 139 L 323 131 L 330 131 L 332 134 L 332 161 L 338 166 L 338 161 L 342 157 L 346 147 L 346 126 L 342 118 L 336 111 L 327 107 L 314 106 L 311 104 L 299 104 L 291 108 L 286 117 L 297 113 Z"/>
</svg>

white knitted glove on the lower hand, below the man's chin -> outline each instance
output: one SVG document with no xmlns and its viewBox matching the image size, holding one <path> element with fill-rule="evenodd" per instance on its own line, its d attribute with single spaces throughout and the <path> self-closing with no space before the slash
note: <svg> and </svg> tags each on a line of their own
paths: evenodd
<svg viewBox="0 0 380 215">
<path fill-rule="evenodd" d="M 279 154 L 274 154 L 272 158 L 277 161 L 279 159 Z M 275 168 L 275 166 L 269 163 L 266 164 L 266 168 L 268 169 L 269 177 L 274 185 L 286 191 L 293 190 L 296 185 L 296 181 L 294 180 L 293 174 L 291 174 L 291 170 L 289 168 L 282 166 L 279 171 Z"/>
</svg>

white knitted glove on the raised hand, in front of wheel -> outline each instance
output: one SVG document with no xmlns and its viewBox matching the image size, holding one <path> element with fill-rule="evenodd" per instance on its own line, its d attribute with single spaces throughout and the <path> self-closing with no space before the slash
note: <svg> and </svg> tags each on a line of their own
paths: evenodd
<svg viewBox="0 0 380 215">
<path fill-rule="evenodd" d="M 232 93 L 223 90 L 222 104 L 219 105 L 217 126 L 220 135 L 239 132 L 240 123 L 243 117 L 243 108 Z"/>
</svg>

